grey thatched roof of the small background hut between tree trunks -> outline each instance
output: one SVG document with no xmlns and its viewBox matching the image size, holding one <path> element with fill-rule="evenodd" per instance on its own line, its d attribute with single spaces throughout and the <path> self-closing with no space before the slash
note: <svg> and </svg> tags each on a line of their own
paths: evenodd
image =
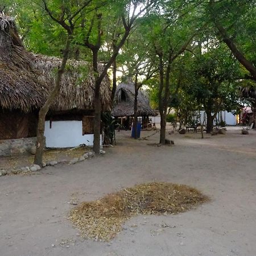
<svg viewBox="0 0 256 256">
<path fill-rule="evenodd" d="M 114 117 L 129 117 L 134 115 L 134 83 L 121 83 L 117 86 L 114 98 L 114 108 L 112 109 L 112 115 Z M 147 92 L 139 90 L 138 92 L 138 115 L 152 115 L 156 113 L 150 107 Z"/>
</svg>

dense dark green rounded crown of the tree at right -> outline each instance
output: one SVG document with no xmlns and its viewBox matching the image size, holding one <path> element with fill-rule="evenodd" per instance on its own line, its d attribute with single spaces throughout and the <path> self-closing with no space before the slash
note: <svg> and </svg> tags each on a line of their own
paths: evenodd
<svg viewBox="0 0 256 256">
<path fill-rule="evenodd" d="M 207 112 L 231 111 L 238 106 L 239 72 L 240 65 L 228 49 L 223 44 L 216 45 L 193 60 L 189 67 L 190 82 L 185 89 Z"/>
</svg>

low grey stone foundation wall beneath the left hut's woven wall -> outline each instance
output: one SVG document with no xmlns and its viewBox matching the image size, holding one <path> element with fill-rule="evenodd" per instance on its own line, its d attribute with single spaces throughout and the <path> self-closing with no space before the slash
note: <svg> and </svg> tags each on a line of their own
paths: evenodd
<svg viewBox="0 0 256 256">
<path fill-rule="evenodd" d="M 0 141 L 0 155 L 35 154 L 36 137 Z"/>
</svg>

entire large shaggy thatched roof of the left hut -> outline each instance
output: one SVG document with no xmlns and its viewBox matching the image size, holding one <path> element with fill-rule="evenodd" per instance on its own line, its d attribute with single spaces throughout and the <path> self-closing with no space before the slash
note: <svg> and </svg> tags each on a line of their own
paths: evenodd
<svg viewBox="0 0 256 256">
<path fill-rule="evenodd" d="M 61 59 L 26 51 L 14 19 L 0 15 L 0 108 L 31 112 L 39 109 L 54 85 Z M 101 69 L 101 65 L 99 65 Z M 102 110 L 109 110 L 110 81 L 101 84 Z M 61 90 L 51 110 L 93 110 L 94 78 L 85 61 L 68 60 Z"/>
</svg>

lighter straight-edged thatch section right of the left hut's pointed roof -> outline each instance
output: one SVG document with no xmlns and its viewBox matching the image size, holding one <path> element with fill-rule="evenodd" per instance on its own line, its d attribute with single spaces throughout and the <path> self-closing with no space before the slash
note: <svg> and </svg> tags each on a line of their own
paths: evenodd
<svg viewBox="0 0 256 256">
<path fill-rule="evenodd" d="M 53 85 L 55 70 L 61 65 L 61 59 L 36 55 L 32 66 L 39 71 L 42 83 Z M 98 65 L 101 71 L 102 66 Z M 86 61 L 68 60 L 59 96 L 52 105 L 53 110 L 93 109 L 94 77 L 91 65 Z M 103 110 L 110 110 L 110 80 L 105 76 L 101 82 L 101 104 Z"/>
</svg>

